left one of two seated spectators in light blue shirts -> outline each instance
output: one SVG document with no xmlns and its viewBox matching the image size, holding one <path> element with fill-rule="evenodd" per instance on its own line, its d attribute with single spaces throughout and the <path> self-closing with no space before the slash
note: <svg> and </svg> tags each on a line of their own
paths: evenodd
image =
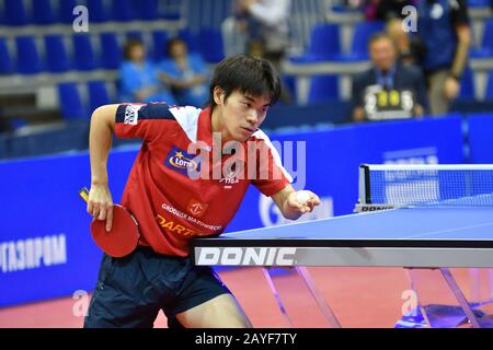
<svg viewBox="0 0 493 350">
<path fill-rule="evenodd" d="M 125 45 L 119 84 L 122 102 L 175 104 L 171 92 L 159 81 L 157 67 L 146 60 L 144 44 L 140 40 L 130 39 Z"/>
</svg>

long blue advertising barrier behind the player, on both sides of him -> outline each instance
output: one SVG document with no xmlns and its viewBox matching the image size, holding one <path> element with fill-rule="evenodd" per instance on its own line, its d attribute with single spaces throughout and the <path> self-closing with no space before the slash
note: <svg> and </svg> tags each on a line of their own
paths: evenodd
<svg viewBox="0 0 493 350">
<path fill-rule="evenodd" d="M 462 163 L 459 117 L 365 124 L 274 135 L 295 188 L 322 205 L 303 218 L 351 213 L 362 163 Z M 296 154 L 287 161 L 289 148 Z M 113 151 L 110 187 L 118 202 L 137 150 Z M 0 163 L 0 307 L 91 291 L 101 252 L 78 190 L 90 185 L 88 153 Z M 283 223 L 272 201 L 251 188 L 227 231 Z"/>
</svg>

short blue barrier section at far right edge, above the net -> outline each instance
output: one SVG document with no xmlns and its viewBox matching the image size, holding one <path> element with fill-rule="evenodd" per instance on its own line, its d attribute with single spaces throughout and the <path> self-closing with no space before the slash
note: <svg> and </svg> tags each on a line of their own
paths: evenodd
<svg viewBox="0 0 493 350">
<path fill-rule="evenodd" d="M 469 159 L 471 163 L 493 163 L 493 114 L 469 115 Z"/>
</svg>

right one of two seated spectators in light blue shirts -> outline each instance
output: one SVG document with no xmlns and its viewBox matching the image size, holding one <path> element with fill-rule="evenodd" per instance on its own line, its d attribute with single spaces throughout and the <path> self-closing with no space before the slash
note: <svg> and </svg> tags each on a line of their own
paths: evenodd
<svg viewBox="0 0 493 350">
<path fill-rule="evenodd" d="M 199 55 L 188 54 L 181 38 L 172 38 L 167 46 L 169 59 L 159 67 L 159 78 L 171 85 L 180 105 L 203 107 L 208 100 L 208 72 Z"/>
</svg>

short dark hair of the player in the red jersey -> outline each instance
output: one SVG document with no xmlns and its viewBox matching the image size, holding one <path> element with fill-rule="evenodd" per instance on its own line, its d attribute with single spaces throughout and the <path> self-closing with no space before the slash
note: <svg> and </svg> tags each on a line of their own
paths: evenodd
<svg viewBox="0 0 493 350">
<path fill-rule="evenodd" d="M 217 65 L 209 88 L 209 106 L 216 106 L 214 89 L 219 86 L 225 92 L 225 101 L 239 91 L 252 96 L 267 94 L 274 105 L 280 96 L 279 74 L 270 61 L 245 55 L 231 56 Z"/>
</svg>

